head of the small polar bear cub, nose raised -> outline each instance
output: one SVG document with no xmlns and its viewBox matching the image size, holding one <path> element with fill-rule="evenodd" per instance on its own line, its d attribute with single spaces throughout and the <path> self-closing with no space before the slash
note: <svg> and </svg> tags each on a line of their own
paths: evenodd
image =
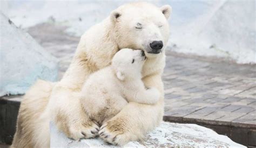
<svg viewBox="0 0 256 148">
<path fill-rule="evenodd" d="M 143 64 L 146 60 L 144 51 L 124 48 L 112 59 L 112 68 L 119 80 L 141 79 Z"/>
</svg>

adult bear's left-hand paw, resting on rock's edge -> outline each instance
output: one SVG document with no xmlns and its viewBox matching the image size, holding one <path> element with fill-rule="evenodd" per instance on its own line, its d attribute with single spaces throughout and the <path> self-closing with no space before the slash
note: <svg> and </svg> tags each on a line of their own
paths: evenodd
<svg viewBox="0 0 256 148">
<path fill-rule="evenodd" d="M 68 137 L 78 140 L 98 136 L 99 124 L 93 121 L 73 123 L 68 131 Z"/>
</svg>

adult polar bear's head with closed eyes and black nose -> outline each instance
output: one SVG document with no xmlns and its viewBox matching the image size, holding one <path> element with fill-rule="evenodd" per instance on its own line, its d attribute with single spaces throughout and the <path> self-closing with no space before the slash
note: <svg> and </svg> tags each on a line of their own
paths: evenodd
<svg viewBox="0 0 256 148">
<path fill-rule="evenodd" d="M 167 19 L 172 9 L 138 2 L 120 6 L 110 15 L 113 37 L 119 48 L 143 50 L 147 57 L 160 55 L 169 39 Z"/>
</svg>

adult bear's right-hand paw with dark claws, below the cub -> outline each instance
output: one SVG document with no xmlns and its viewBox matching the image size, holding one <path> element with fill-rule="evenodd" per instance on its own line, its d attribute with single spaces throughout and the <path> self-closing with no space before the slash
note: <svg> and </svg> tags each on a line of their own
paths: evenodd
<svg viewBox="0 0 256 148">
<path fill-rule="evenodd" d="M 123 146 L 130 142 L 129 135 L 123 132 L 122 129 L 111 129 L 111 125 L 105 123 L 99 130 L 99 137 L 102 138 L 106 143 L 113 145 Z"/>
</svg>

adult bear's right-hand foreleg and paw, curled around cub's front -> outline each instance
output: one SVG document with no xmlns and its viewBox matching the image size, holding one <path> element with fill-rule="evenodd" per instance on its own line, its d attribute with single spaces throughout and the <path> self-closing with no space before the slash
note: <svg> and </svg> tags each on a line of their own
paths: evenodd
<svg viewBox="0 0 256 148">
<path fill-rule="evenodd" d="M 157 104 L 146 105 L 135 102 L 127 104 L 116 116 L 102 125 L 99 135 L 106 142 L 124 145 L 132 140 L 143 138 L 163 119 L 164 89 L 160 75 L 146 77 L 147 87 L 156 87 L 161 93 Z"/>
</svg>

